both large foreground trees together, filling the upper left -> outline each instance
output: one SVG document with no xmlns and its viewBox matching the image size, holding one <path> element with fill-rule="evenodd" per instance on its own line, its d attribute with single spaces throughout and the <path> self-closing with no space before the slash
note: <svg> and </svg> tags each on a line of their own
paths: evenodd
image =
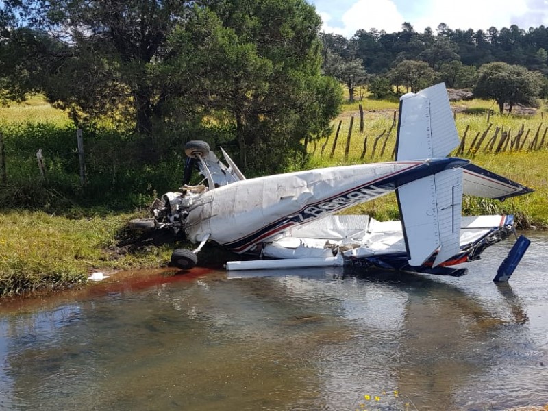
<svg viewBox="0 0 548 411">
<path fill-rule="evenodd" d="M 321 20 L 304 0 L 8 0 L 4 99 L 43 92 L 78 125 L 235 143 L 244 169 L 279 171 L 329 129 L 341 89 L 321 75 Z M 204 137 L 205 136 L 205 137 Z M 269 153 L 270 155 L 265 155 Z"/>
</svg>

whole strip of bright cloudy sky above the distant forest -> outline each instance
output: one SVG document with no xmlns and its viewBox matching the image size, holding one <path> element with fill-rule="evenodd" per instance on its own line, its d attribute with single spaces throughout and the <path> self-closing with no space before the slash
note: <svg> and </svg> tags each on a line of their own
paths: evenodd
<svg viewBox="0 0 548 411">
<path fill-rule="evenodd" d="M 515 24 L 548 27 L 548 0 L 308 0 L 323 21 L 322 31 L 350 38 L 358 29 L 401 31 L 411 23 L 416 32 L 440 23 L 449 29 L 502 29 Z"/>
</svg>

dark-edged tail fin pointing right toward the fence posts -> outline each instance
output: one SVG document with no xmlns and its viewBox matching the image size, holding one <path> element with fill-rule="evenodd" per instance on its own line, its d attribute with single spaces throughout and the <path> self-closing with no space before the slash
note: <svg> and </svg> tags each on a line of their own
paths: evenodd
<svg viewBox="0 0 548 411">
<path fill-rule="evenodd" d="M 464 194 L 503 200 L 534 190 L 474 164 L 464 166 Z"/>
</svg>

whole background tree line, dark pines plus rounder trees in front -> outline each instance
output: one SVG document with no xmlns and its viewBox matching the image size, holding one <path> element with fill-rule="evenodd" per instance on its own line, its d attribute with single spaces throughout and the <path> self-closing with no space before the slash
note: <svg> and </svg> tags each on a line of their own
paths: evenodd
<svg viewBox="0 0 548 411">
<path fill-rule="evenodd" d="M 320 34 L 323 71 L 339 79 L 354 99 L 366 84 L 377 98 L 393 89 L 416 91 L 436 82 L 449 88 L 469 88 L 475 97 L 495 99 L 502 112 L 516 104 L 538 105 L 548 97 L 548 29 L 527 32 L 512 25 L 500 31 L 450 29 L 440 23 L 416 32 L 403 23 L 400 32 L 360 29 L 347 39 Z M 396 93 L 397 94 L 397 93 Z"/>
</svg>

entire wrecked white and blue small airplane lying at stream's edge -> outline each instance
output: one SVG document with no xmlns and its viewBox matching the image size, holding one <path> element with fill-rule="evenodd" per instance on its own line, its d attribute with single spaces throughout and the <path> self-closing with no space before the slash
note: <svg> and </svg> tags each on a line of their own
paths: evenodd
<svg viewBox="0 0 548 411">
<path fill-rule="evenodd" d="M 460 276 L 460 264 L 515 234 L 512 216 L 462 217 L 462 195 L 503 200 L 532 190 L 447 157 L 458 144 L 444 84 L 401 97 L 393 162 L 246 179 L 222 148 L 227 165 L 206 142 L 190 141 L 180 191 L 156 199 L 153 218 L 129 225 L 171 229 L 198 243 L 173 251 L 170 264 L 182 269 L 197 264 L 210 240 L 255 256 L 227 262 L 227 270 L 352 265 Z M 207 186 L 188 185 L 193 169 Z M 336 214 L 394 190 L 401 221 Z M 495 281 L 508 281 L 529 245 L 516 240 Z"/>
</svg>

